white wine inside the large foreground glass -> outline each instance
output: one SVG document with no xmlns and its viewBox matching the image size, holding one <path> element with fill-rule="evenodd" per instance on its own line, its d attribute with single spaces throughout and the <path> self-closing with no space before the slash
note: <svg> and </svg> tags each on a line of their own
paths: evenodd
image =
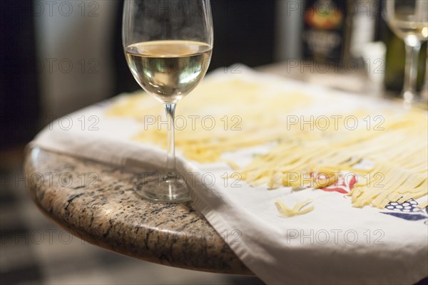
<svg viewBox="0 0 428 285">
<path fill-rule="evenodd" d="M 175 103 L 205 75 L 211 47 L 197 41 L 149 41 L 126 47 L 136 81 L 163 103 Z"/>
</svg>

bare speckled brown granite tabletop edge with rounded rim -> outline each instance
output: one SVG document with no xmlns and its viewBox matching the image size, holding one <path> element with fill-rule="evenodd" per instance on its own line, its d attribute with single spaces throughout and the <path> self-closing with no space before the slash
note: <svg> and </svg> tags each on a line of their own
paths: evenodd
<svg viewBox="0 0 428 285">
<path fill-rule="evenodd" d="M 159 264 L 253 275 L 189 202 L 138 197 L 136 173 L 39 148 L 27 149 L 25 172 L 41 211 L 92 244 Z"/>
</svg>

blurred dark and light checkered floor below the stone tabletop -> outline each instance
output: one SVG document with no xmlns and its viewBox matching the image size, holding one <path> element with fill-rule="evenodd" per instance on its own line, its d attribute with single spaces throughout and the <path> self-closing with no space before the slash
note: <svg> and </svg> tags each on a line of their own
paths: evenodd
<svg viewBox="0 0 428 285">
<path fill-rule="evenodd" d="M 2 161 L 0 171 L 0 284 L 263 284 L 152 264 L 85 243 L 31 202 L 19 159 Z"/>
</svg>

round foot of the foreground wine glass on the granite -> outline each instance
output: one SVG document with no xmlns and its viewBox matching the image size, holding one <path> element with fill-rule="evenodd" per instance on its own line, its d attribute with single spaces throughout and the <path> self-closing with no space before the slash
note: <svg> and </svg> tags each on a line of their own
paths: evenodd
<svg viewBox="0 0 428 285">
<path fill-rule="evenodd" d="M 155 202 L 182 203 L 190 201 L 188 187 L 182 177 L 156 175 L 146 177 L 134 187 L 136 194 Z"/>
</svg>

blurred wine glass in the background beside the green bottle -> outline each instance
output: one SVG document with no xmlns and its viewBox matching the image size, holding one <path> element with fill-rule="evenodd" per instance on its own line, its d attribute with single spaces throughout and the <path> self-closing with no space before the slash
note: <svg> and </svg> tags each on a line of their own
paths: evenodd
<svg viewBox="0 0 428 285">
<path fill-rule="evenodd" d="M 389 28 L 404 40 L 406 66 L 402 97 L 405 104 L 414 103 L 419 100 L 416 90 L 419 51 L 428 38 L 428 1 L 384 0 L 384 17 Z"/>
</svg>

